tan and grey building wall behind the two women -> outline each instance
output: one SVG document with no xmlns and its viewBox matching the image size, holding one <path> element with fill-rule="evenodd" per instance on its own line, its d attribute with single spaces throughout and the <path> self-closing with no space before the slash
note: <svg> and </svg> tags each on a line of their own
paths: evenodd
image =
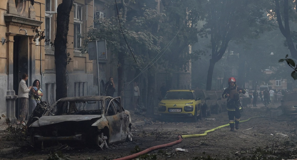
<svg viewBox="0 0 297 160">
<path fill-rule="evenodd" d="M 31 1 L 23 1 L 18 6 L 15 0 L 0 1 L 0 40 L 6 40 L 3 45 L 0 44 L 0 115 L 4 114 L 12 122 L 16 121 L 20 113 L 17 94 L 23 73 L 29 75 L 28 86 L 31 86 L 35 79 L 40 80 L 44 93 L 42 100 L 50 104 L 56 100 L 54 47 L 45 47 L 44 40 L 34 42 L 36 33 L 32 31 L 32 27 L 45 31 L 45 17 L 50 17 L 50 40 L 53 42 L 56 33 L 54 11 L 61 2 L 62 0 L 51 0 L 53 12 L 46 13 L 46 0 L 35 0 L 33 5 Z M 94 2 L 75 0 L 75 3 L 82 7 L 81 33 L 85 33 L 93 22 Z M 27 35 L 20 29 L 25 29 Z M 93 95 L 93 60 L 89 60 L 87 54 L 74 52 L 74 34 L 72 7 L 67 36 L 67 52 L 72 59 L 67 65 L 67 93 L 68 96 Z"/>
</svg>

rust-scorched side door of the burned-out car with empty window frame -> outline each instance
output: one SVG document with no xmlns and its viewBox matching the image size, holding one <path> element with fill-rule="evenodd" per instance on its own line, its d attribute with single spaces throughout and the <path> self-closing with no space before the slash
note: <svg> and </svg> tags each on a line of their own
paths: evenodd
<svg viewBox="0 0 297 160">
<path fill-rule="evenodd" d="M 105 117 L 108 120 L 109 126 L 109 143 L 124 141 L 127 137 L 127 128 L 129 121 L 127 120 L 127 114 L 123 112 L 121 107 L 120 97 L 113 99 L 107 98 L 108 106 L 105 109 Z"/>
</svg>

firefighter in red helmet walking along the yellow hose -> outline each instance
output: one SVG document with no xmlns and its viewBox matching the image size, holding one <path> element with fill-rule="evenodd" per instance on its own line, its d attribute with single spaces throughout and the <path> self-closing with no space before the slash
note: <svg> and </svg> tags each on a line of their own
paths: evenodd
<svg viewBox="0 0 297 160">
<path fill-rule="evenodd" d="M 239 93 L 245 94 L 246 90 L 238 87 L 234 77 L 228 79 L 229 87 L 225 89 L 222 94 L 223 98 L 227 99 L 227 111 L 229 117 L 230 131 L 234 131 L 234 122 L 235 129 L 239 129 L 239 120 L 241 117 L 241 102 L 239 100 Z M 235 117 L 235 121 L 234 121 Z"/>
</svg>

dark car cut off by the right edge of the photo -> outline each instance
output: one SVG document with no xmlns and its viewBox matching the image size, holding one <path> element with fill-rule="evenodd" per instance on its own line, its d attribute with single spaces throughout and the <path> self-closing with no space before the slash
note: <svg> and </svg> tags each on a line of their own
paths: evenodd
<svg viewBox="0 0 297 160">
<path fill-rule="evenodd" d="M 289 92 L 285 94 L 280 102 L 281 105 L 279 108 L 282 109 L 284 114 L 297 114 L 297 92 Z"/>
</svg>

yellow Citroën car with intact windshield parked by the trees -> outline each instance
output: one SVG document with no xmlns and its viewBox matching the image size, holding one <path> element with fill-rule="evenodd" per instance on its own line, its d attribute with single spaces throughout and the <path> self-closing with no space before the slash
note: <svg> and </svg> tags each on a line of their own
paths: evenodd
<svg viewBox="0 0 297 160">
<path fill-rule="evenodd" d="M 158 118 L 165 116 L 201 119 L 201 100 L 193 89 L 169 90 L 158 105 Z"/>
</svg>

